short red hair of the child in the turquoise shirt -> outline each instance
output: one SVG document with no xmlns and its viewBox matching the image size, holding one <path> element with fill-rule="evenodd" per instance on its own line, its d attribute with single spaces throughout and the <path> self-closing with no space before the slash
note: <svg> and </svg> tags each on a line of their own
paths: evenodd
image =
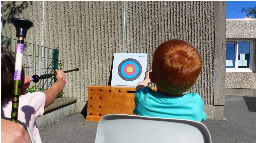
<svg viewBox="0 0 256 143">
<path fill-rule="evenodd" d="M 152 71 L 156 85 L 166 93 L 187 92 L 202 69 L 202 58 L 189 43 L 172 39 L 160 44 L 153 55 Z"/>
</svg>

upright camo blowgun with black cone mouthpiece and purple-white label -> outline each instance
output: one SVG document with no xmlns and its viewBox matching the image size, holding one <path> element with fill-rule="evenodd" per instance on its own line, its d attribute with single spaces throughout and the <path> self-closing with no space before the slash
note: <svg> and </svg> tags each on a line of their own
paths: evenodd
<svg viewBox="0 0 256 143">
<path fill-rule="evenodd" d="M 24 39 L 26 38 L 27 31 L 34 26 L 34 24 L 26 19 L 13 18 L 11 23 L 16 28 L 16 37 L 18 38 L 16 47 L 16 59 L 14 69 L 14 88 L 12 98 L 12 114 L 11 121 L 18 122 L 18 108 L 19 108 L 19 96 L 20 96 L 20 85 L 22 76 L 22 59 L 24 51 Z"/>
</svg>

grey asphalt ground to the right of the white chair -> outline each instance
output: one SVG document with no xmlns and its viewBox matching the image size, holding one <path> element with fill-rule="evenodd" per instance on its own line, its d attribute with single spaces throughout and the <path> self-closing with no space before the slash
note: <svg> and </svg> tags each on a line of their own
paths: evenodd
<svg viewBox="0 0 256 143">
<path fill-rule="evenodd" d="M 249 112 L 243 96 L 226 96 L 224 117 L 229 121 L 202 121 L 213 143 L 256 143 L 256 112 Z"/>
</svg>

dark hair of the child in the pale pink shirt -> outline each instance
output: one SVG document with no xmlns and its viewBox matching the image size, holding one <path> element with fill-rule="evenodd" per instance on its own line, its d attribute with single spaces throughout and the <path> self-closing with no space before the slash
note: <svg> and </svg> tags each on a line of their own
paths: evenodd
<svg viewBox="0 0 256 143">
<path fill-rule="evenodd" d="M 1 103 L 13 97 L 15 53 L 1 47 Z M 21 85 L 24 84 L 24 69 L 22 67 Z"/>
</svg>

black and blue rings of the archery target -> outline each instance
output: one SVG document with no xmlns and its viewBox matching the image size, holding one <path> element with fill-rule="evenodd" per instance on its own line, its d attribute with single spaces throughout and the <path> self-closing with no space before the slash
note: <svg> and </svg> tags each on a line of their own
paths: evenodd
<svg viewBox="0 0 256 143">
<path fill-rule="evenodd" d="M 138 70 L 134 75 L 126 75 L 123 71 L 121 70 L 124 70 L 122 67 L 124 67 L 125 65 L 127 64 L 131 64 L 131 63 L 134 63 L 135 67 L 137 67 L 136 69 L 134 70 Z M 136 65 L 137 64 L 137 65 Z M 137 78 L 140 77 L 141 75 L 141 72 L 142 72 L 142 66 L 141 64 L 135 60 L 135 59 L 132 59 L 132 58 L 128 58 L 128 59 L 125 59 L 123 60 L 119 65 L 118 65 L 118 75 L 125 81 L 134 81 L 136 80 Z"/>
</svg>

